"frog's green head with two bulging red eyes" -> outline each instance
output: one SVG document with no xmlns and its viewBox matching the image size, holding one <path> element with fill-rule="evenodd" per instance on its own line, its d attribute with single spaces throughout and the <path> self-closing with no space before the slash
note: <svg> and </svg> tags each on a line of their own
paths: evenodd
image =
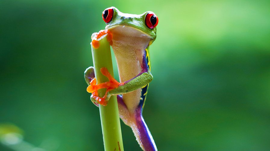
<svg viewBox="0 0 270 151">
<path fill-rule="evenodd" d="M 156 38 L 156 26 L 159 19 L 155 13 L 147 11 L 141 15 L 122 13 L 115 7 L 109 7 L 102 13 L 107 24 L 105 29 L 125 37 L 144 37 L 149 45 Z"/>
</svg>

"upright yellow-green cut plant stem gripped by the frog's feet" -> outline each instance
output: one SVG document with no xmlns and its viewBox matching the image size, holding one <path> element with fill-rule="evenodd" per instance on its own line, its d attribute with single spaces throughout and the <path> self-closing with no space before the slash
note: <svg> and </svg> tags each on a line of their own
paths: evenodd
<svg viewBox="0 0 270 151">
<path fill-rule="evenodd" d="M 94 49 L 91 43 L 92 56 L 97 84 L 108 81 L 108 78 L 102 75 L 100 68 L 106 67 L 113 75 L 113 67 L 111 61 L 111 49 L 106 36 L 98 39 L 100 46 Z M 104 96 L 105 89 L 98 90 L 99 97 Z M 99 105 L 99 113 L 102 126 L 102 134 L 105 151 L 124 151 L 123 140 L 118 113 L 117 97 L 111 96 L 107 106 Z"/>
</svg>

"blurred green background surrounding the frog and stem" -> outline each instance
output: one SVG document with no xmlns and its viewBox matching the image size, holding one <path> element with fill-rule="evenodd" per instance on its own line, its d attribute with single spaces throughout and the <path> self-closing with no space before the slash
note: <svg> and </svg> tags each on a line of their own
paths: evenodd
<svg viewBox="0 0 270 151">
<path fill-rule="evenodd" d="M 104 150 L 83 72 L 111 6 L 159 17 L 143 116 L 160 151 L 270 150 L 266 0 L 1 0 L 0 123 L 47 150 Z M 121 129 L 125 151 L 140 150 Z"/>
</svg>

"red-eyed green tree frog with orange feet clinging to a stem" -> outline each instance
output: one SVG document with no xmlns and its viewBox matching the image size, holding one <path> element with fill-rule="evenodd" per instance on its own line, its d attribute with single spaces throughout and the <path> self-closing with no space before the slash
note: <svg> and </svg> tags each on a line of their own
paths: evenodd
<svg viewBox="0 0 270 151">
<path fill-rule="evenodd" d="M 153 80 L 149 46 L 156 39 L 159 19 L 152 11 L 136 15 L 122 13 L 116 7 L 106 8 L 102 13 L 102 19 L 106 26 L 99 34 L 103 35 L 106 32 L 110 37 L 120 82 L 104 67 L 100 71 L 109 81 L 96 84 L 94 68 L 89 67 L 84 73 L 89 85 L 87 92 L 92 93 L 90 98 L 96 106 L 107 105 L 110 97 L 117 95 L 119 116 L 131 127 L 142 150 L 157 151 L 142 112 L 149 83 Z M 99 43 L 92 40 L 92 46 L 99 47 Z M 95 95 L 95 92 L 102 88 L 107 89 L 105 95 Z"/>
</svg>

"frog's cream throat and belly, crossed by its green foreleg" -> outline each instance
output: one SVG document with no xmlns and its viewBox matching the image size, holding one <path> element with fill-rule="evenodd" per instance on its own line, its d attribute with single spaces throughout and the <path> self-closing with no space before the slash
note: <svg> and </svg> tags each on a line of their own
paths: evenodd
<svg viewBox="0 0 270 151">
<path fill-rule="evenodd" d="M 149 37 L 135 28 L 117 26 L 112 28 L 112 49 L 115 53 L 120 82 L 136 77 L 142 71 L 142 59 Z M 140 103 L 141 88 L 123 94 L 123 101 L 130 112 Z"/>
</svg>

